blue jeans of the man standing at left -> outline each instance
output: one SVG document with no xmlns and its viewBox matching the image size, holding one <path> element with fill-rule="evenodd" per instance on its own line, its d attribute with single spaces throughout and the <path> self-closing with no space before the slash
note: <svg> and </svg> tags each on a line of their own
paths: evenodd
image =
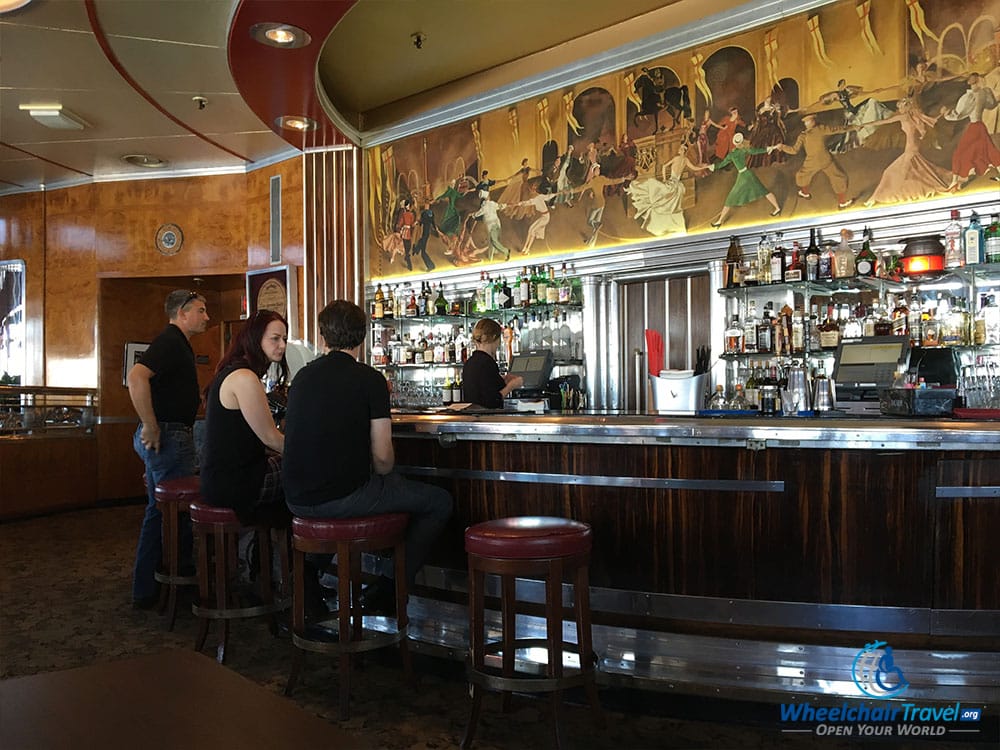
<svg viewBox="0 0 1000 750">
<path fill-rule="evenodd" d="M 146 513 L 142 517 L 139 544 L 135 550 L 135 569 L 132 573 L 132 599 L 145 599 L 156 593 L 153 574 L 160 565 L 163 554 L 162 515 L 156 507 L 156 485 L 165 479 L 189 477 L 198 471 L 198 458 L 194 449 L 191 428 L 180 422 L 160 422 L 160 450 L 143 447 L 140 424 L 132 436 L 132 447 L 146 465 Z M 191 519 L 181 516 L 181 562 L 191 560 Z"/>
</svg>

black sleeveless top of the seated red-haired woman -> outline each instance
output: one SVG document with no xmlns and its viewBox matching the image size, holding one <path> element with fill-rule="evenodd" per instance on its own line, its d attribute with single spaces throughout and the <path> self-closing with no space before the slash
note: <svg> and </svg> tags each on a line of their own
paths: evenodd
<svg viewBox="0 0 1000 750">
<path fill-rule="evenodd" d="M 219 399 L 222 381 L 238 369 L 223 370 L 208 389 L 201 494 L 209 505 L 233 508 L 240 520 L 248 522 L 264 483 L 267 453 L 243 412 L 227 409 Z"/>
</svg>

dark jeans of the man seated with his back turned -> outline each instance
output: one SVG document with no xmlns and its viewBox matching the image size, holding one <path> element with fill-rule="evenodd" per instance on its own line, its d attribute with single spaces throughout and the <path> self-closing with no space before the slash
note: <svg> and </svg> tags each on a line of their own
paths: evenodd
<svg viewBox="0 0 1000 750">
<path fill-rule="evenodd" d="M 406 526 L 406 581 L 412 586 L 417 571 L 451 517 L 451 493 L 433 484 L 414 482 L 396 473 L 373 474 L 347 497 L 320 505 L 292 505 L 301 518 L 358 518 L 382 513 L 408 513 Z"/>
</svg>

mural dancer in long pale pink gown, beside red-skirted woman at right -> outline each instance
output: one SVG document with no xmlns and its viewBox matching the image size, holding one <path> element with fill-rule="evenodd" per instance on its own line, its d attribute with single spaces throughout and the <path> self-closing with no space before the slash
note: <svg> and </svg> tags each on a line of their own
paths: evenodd
<svg viewBox="0 0 1000 750">
<path fill-rule="evenodd" d="M 921 139 L 937 120 L 937 117 L 928 117 L 921 112 L 911 99 L 900 99 L 895 115 L 872 123 L 880 126 L 898 122 L 906 136 L 906 147 L 899 158 L 882 172 L 875 192 L 865 201 L 866 206 L 924 200 L 950 189 L 948 171 L 932 164 L 920 153 Z"/>
</svg>

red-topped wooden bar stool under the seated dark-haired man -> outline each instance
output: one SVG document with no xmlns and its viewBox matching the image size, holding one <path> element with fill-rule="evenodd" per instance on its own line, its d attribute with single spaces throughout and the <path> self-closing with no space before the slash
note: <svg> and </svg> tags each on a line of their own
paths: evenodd
<svg viewBox="0 0 1000 750">
<path fill-rule="evenodd" d="M 292 519 L 292 569 L 295 591 L 292 597 L 292 643 L 296 646 L 292 671 L 285 695 L 295 689 L 306 651 L 337 654 L 340 673 L 340 718 L 350 717 L 351 657 L 354 654 L 399 644 L 403 671 L 413 679 L 413 665 L 407 647 L 406 552 L 404 540 L 409 516 L 386 513 L 362 518 Z M 366 628 L 361 608 L 361 555 L 364 552 L 393 550 L 396 572 L 396 630 L 386 632 Z M 337 555 L 337 632 L 336 637 L 307 629 L 305 617 L 306 553 Z M 328 631 L 327 631 L 328 632 Z M 330 634 L 333 635 L 332 633 Z"/>
</svg>

